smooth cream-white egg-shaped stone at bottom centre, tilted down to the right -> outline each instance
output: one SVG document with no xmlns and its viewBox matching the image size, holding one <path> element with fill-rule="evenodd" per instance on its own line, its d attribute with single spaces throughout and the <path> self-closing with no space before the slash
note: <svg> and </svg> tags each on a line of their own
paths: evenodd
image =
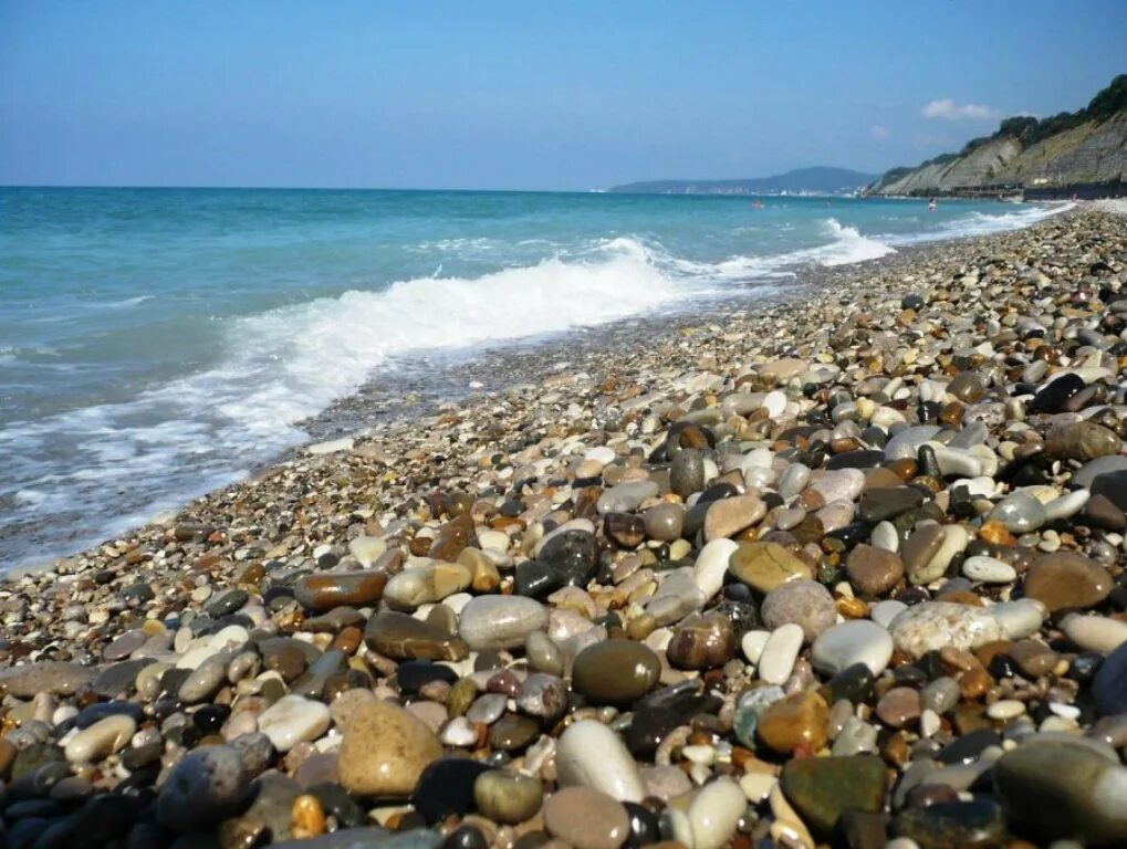
<svg viewBox="0 0 1127 849">
<path fill-rule="evenodd" d="M 556 774 L 564 787 L 594 787 L 619 802 L 641 802 L 647 795 L 638 765 L 619 735 L 594 720 L 580 720 L 560 735 Z"/>
</svg>

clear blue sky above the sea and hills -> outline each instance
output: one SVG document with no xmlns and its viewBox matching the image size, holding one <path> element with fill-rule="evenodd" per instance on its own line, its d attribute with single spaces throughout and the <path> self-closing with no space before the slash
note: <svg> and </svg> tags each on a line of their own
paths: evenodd
<svg viewBox="0 0 1127 849">
<path fill-rule="evenodd" d="M 1125 43 L 1122 0 L 0 0 L 0 184 L 880 171 L 1083 106 Z"/>
</svg>

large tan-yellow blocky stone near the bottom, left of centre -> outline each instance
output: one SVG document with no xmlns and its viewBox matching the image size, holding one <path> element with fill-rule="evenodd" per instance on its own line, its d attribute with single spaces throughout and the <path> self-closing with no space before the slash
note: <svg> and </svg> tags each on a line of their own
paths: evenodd
<svg viewBox="0 0 1127 849">
<path fill-rule="evenodd" d="M 341 786 L 357 796 L 409 796 L 423 770 L 442 757 L 434 732 L 398 705 L 360 706 L 344 730 Z"/>
</svg>

